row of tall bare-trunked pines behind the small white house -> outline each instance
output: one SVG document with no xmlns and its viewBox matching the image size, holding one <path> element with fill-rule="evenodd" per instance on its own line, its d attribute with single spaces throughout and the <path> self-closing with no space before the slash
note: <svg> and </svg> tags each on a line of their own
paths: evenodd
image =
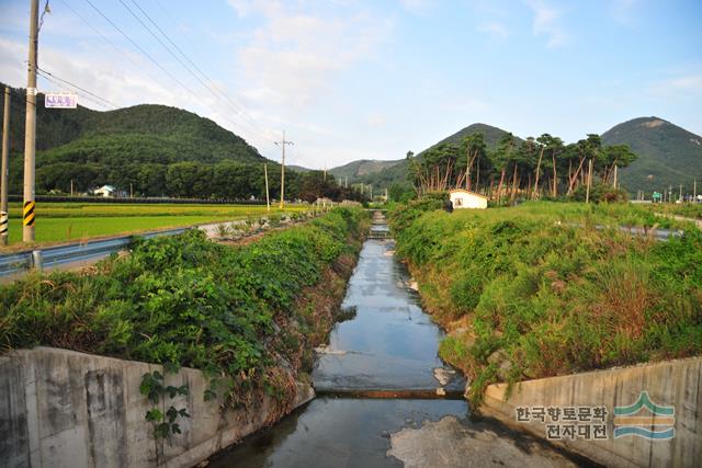
<svg viewBox="0 0 702 468">
<path fill-rule="evenodd" d="M 566 145 L 550 134 L 518 140 L 508 133 L 488 149 L 484 135 L 476 133 L 460 144 L 437 145 L 421 158 L 408 153 L 408 159 L 418 195 L 461 187 L 513 201 L 575 196 L 587 184 L 590 161 L 591 182 L 613 185 L 615 172 L 636 155 L 627 145 L 603 145 L 596 134 Z"/>
</svg>

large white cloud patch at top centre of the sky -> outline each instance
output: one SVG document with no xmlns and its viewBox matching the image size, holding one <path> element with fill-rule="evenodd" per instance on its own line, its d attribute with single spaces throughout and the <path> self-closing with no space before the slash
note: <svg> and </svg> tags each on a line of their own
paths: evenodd
<svg viewBox="0 0 702 468">
<path fill-rule="evenodd" d="M 263 3 L 249 3 L 264 22 L 236 52 L 247 82 L 254 83 L 244 92 L 259 104 L 299 110 L 315 103 L 342 70 L 372 57 L 390 27 L 363 13 L 325 16 Z"/>
</svg>

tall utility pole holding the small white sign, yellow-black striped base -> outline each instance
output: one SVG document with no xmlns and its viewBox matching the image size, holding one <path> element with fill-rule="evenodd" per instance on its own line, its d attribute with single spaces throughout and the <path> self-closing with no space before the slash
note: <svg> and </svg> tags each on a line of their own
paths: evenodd
<svg viewBox="0 0 702 468">
<path fill-rule="evenodd" d="M 36 150 L 36 57 L 38 43 L 39 1 L 30 0 L 30 56 L 26 77 L 26 119 L 24 124 L 24 205 L 22 240 L 34 242 L 34 181 Z"/>
</svg>

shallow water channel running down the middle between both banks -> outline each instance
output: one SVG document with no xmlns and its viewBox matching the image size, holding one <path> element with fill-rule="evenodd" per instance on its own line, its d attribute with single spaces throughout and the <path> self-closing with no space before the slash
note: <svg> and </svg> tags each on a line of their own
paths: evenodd
<svg viewBox="0 0 702 468">
<path fill-rule="evenodd" d="M 208 466 L 575 466 L 536 440 L 469 421 L 465 380 L 439 359 L 442 331 L 387 232 L 376 213 L 342 305 L 352 318 L 317 350 L 318 397 Z"/>
</svg>

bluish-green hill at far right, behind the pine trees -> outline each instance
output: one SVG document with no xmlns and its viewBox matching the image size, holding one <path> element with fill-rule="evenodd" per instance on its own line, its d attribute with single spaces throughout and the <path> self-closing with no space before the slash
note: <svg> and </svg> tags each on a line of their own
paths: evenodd
<svg viewBox="0 0 702 468">
<path fill-rule="evenodd" d="M 702 137 L 659 117 L 639 117 L 619 124 L 602 134 L 605 145 L 629 145 L 638 158 L 621 171 L 621 182 L 630 192 L 643 190 L 692 192 L 694 180 L 702 182 Z M 702 187 L 702 185 L 701 185 Z M 699 191 L 702 192 L 702 189 Z"/>
</svg>

